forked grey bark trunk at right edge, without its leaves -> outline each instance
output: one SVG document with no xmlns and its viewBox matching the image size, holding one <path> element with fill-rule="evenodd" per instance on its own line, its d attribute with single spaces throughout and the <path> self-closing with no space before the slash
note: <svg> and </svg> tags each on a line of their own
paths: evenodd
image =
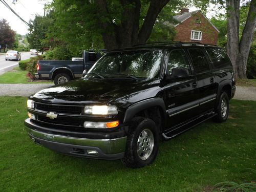
<svg viewBox="0 0 256 192">
<path fill-rule="evenodd" d="M 252 0 L 246 24 L 239 42 L 240 1 L 226 0 L 227 5 L 227 53 L 236 72 L 236 78 L 246 79 L 246 66 L 251 47 L 252 36 L 256 27 L 256 0 Z"/>
</svg>

